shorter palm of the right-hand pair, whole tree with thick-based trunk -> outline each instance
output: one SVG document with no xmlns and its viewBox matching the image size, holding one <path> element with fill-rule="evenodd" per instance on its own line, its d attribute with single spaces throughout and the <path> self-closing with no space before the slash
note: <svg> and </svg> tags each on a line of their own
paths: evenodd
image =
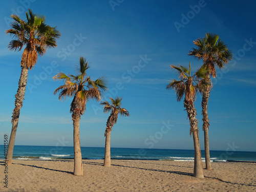
<svg viewBox="0 0 256 192">
<path fill-rule="evenodd" d="M 205 68 L 199 69 L 193 76 L 191 76 L 191 67 L 189 62 L 189 69 L 182 66 L 171 65 L 173 69 L 177 71 L 180 80 L 173 79 L 169 84 L 167 84 L 166 89 L 174 89 L 177 96 L 177 101 L 181 101 L 184 98 L 184 108 L 187 111 L 187 117 L 190 123 L 190 135 L 193 134 L 194 140 L 194 150 L 195 150 L 195 160 L 194 160 L 194 176 L 197 178 L 204 178 L 203 166 L 201 158 L 200 143 L 198 137 L 198 120 L 196 118 L 197 112 L 195 109 L 194 101 L 197 91 L 203 91 L 205 88 L 207 70 Z"/>
</svg>

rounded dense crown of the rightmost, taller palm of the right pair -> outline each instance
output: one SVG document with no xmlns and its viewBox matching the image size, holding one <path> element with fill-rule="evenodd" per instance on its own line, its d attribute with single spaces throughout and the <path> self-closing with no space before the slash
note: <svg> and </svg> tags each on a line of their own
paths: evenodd
<svg viewBox="0 0 256 192">
<path fill-rule="evenodd" d="M 224 63 L 232 60 L 232 53 L 228 50 L 227 45 L 220 39 L 219 35 L 206 33 L 206 37 L 198 38 L 194 41 L 197 48 L 192 48 L 188 55 L 194 56 L 197 59 L 203 59 L 209 74 L 216 77 L 215 65 L 220 69 L 224 67 Z"/>
</svg>

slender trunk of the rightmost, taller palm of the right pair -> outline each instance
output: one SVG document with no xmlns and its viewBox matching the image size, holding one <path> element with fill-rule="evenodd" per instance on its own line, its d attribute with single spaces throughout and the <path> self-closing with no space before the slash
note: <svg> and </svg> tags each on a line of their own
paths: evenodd
<svg viewBox="0 0 256 192">
<path fill-rule="evenodd" d="M 207 83 L 210 83 L 210 76 L 207 76 Z M 208 100 L 210 97 L 210 86 L 207 86 L 202 98 L 202 115 L 203 115 L 203 131 L 204 131 L 204 153 L 205 165 L 207 170 L 211 170 L 210 165 L 210 149 L 209 149 L 209 119 L 208 119 Z"/>
</svg>

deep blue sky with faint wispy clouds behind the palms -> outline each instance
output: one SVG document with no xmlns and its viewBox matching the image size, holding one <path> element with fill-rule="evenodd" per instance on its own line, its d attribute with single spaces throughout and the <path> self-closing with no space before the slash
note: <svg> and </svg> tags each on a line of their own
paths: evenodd
<svg viewBox="0 0 256 192">
<path fill-rule="evenodd" d="M 12 39 L 10 15 L 25 19 L 30 8 L 46 16 L 46 23 L 61 32 L 58 47 L 38 57 L 29 71 L 25 101 L 20 112 L 15 144 L 73 145 L 71 98 L 58 101 L 53 91 L 62 82 L 58 72 L 75 73 L 79 57 L 91 63 L 92 79 L 108 79 L 109 96 L 123 97 L 130 117 L 119 117 L 113 127 L 112 147 L 193 149 L 183 102 L 166 90 L 177 78 L 169 65 L 191 66 L 202 61 L 187 55 L 193 41 L 216 33 L 234 54 L 224 70 L 217 70 L 208 114 L 211 150 L 256 151 L 255 129 L 255 1 L 8 1 L 0 11 L 0 126 L 10 135 L 14 95 L 20 76 L 22 51 L 7 49 Z M 197 96 L 199 137 L 203 146 L 201 96 Z M 104 114 L 96 101 L 87 103 L 80 120 L 81 146 L 104 146 Z M 3 142 L 3 138 L 0 141 Z"/>
</svg>

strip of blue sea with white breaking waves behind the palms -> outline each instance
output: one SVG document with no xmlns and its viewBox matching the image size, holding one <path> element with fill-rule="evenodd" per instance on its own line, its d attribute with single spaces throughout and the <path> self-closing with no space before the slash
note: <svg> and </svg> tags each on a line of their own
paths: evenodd
<svg viewBox="0 0 256 192">
<path fill-rule="evenodd" d="M 0 145 L 1 147 L 1 145 Z M 4 145 L 0 150 L 0 159 L 4 159 Z M 81 147 L 82 159 L 103 159 L 104 147 Z M 204 159 L 204 151 L 202 160 Z M 212 162 L 226 161 L 254 161 L 256 152 L 240 151 L 210 151 Z M 194 161 L 194 150 L 166 150 L 149 148 L 111 148 L 112 159 L 126 160 L 174 160 Z M 29 146 L 15 145 L 13 159 L 28 160 L 54 160 L 74 159 L 73 146 Z"/>
</svg>

